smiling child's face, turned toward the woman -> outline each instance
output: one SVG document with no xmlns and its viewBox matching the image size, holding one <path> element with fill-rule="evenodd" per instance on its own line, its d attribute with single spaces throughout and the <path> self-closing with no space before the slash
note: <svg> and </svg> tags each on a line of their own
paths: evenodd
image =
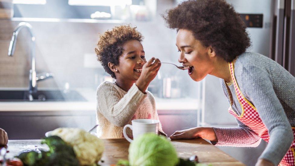
<svg viewBox="0 0 295 166">
<path fill-rule="evenodd" d="M 142 44 L 137 40 L 127 41 L 123 48 L 124 51 L 119 57 L 117 66 L 119 72 L 116 73 L 116 78 L 134 82 L 138 80 L 142 66 L 147 62 L 144 50 Z"/>
</svg>

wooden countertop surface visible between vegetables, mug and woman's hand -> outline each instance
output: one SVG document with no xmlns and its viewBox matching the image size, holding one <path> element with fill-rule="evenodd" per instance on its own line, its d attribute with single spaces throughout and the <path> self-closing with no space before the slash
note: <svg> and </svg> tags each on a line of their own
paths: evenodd
<svg viewBox="0 0 295 166">
<path fill-rule="evenodd" d="M 105 151 L 102 155 L 101 165 L 116 164 L 119 159 L 128 159 L 129 142 L 125 139 L 103 139 Z M 199 162 L 212 165 L 245 165 L 235 160 L 225 152 L 214 147 L 202 138 L 190 140 L 171 140 L 181 158 L 189 158 L 197 155 Z M 47 145 L 42 145 L 41 140 L 9 140 L 8 153 L 6 156 L 11 158 L 19 155 L 22 151 L 28 150 L 48 150 Z"/>
</svg>

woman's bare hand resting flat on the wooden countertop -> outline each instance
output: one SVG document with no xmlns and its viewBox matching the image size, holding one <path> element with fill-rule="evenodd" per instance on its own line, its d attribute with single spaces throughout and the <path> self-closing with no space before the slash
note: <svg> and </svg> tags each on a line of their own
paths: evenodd
<svg viewBox="0 0 295 166">
<path fill-rule="evenodd" d="M 170 136 L 171 139 L 193 139 L 204 138 L 217 142 L 217 137 L 212 127 L 195 127 L 186 130 L 176 131 Z"/>
</svg>

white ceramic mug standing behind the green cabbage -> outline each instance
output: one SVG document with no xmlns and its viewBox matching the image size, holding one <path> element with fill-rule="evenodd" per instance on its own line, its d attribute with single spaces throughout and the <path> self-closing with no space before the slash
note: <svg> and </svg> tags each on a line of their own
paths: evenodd
<svg viewBox="0 0 295 166">
<path fill-rule="evenodd" d="M 128 137 L 126 129 L 129 127 L 132 130 L 133 139 L 144 133 L 155 133 L 158 134 L 159 121 L 154 119 L 135 119 L 131 121 L 132 125 L 125 125 L 123 129 L 123 135 L 127 141 L 132 142 L 133 140 Z"/>
</svg>

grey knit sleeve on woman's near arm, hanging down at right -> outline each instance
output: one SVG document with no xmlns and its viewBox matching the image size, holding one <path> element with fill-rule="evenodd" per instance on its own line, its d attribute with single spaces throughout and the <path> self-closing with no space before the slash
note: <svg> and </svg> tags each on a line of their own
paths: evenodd
<svg viewBox="0 0 295 166">
<path fill-rule="evenodd" d="M 293 142 L 291 125 L 272 86 L 271 77 L 259 67 L 243 67 L 242 87 L 256 107 L 270 135 L 268 145 L 259 158 L 278 165 Z"/>
</svg>

